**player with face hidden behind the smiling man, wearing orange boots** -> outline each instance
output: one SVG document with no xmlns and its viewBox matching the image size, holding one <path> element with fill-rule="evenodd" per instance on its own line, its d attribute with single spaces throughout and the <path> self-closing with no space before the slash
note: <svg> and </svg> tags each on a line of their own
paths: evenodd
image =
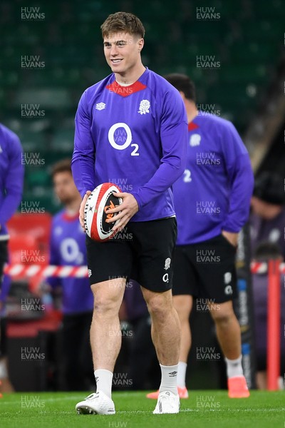
<svg viewBox="0 0 285 428">
<path fill-rule="evenodd" d="M 193 296 L 209 306 L 214 320 L 227 364 L 229 397 L 248 397 L 232 297 L 237 235 L 249 215 L 254 183 L 249 155 L 232 123 L 197 111 L 195 86 L 189 77 L 170 74 L 166 78 L 180 91 L 189 123 L 187 165 L 173 185 L 178 227 L 173 300 L 182 329 L 177 375 L 180 397 L 188 397 L 185 372 Z"/>
</svg>

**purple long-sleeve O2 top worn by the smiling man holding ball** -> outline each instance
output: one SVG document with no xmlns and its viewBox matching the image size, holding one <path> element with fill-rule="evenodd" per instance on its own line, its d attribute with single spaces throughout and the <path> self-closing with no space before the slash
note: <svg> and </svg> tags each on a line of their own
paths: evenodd
<svg viewBox="0 0 285 428">
<path fill-rule="evenodd" d="M 100 183 L 132 193 L 132 221 L 175 215 L 172 183 L 185 170 L 187 116 L 178 91 L 148 68 L 130 86 L 115 75 L 88 88 L 76 113 L 73 178 L 83 196 Z"/>
</svg>

